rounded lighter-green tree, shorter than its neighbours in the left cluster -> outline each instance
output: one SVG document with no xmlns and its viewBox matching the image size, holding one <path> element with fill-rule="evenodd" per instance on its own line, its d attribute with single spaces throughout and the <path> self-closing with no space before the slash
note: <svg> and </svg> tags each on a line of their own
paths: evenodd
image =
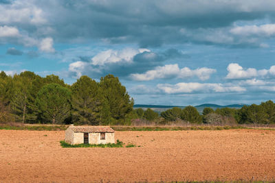
<svg viewBox="0 0 275 183">
<path fill-rule="evenodd" d="M 63 123 L 69 117 L 71 91 L 59 84 L 47 84 L 41 88 L 36 98 L 39 114 L 47 122 Z"/>
</svg>

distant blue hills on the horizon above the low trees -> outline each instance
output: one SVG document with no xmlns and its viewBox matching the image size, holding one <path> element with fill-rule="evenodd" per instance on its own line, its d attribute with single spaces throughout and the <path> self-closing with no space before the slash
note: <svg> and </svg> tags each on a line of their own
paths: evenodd
<svg viewBox="0 0 275 183">
<path fill-rule="evenodd" d="M 227 105 L 227 106 L 220 106 L 214 103 L 203 103 L 199 106 L 195 106 L 195 108 L 197 108 L 197 110 L 199 111 L 199 113 L 201 114 L 204 108 L 212 108 L 213 110 L 216 110 L 217 108 L 242 108 L 244 106 L 244 104 L 231 104 L 231 105 Z M 168 110 L 170 108 L 174 108 L 174 107 L 178 107 L 178 108 L 185 108 L 186 106 L 163 106 L 163 105 L 143 105 L 143 104 L 135 104 L 133 105 L 133 108 L 142 108 L 143 110 L 146 110 L 147 108 L 151 108 L 152 110 L 154 110 L 155 112 L 162 112 L 165 110 Z"/>
</svg>

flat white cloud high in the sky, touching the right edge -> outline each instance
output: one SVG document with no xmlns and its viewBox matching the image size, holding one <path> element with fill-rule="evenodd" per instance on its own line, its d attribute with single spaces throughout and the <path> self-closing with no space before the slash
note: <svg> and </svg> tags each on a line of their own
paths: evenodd
<svg viewBox="0 0 275 183">
<path fill-rule="evenodd" d="M 230 32 L 241 36 L 274 36 L 275 24 L 238 26 L 230 29 Z"/>
</svg>

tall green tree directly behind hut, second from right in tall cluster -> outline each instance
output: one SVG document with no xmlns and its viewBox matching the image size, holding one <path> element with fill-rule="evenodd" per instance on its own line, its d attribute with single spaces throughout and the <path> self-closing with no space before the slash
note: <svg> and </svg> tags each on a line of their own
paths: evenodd
<svg viewBox="0 0 275 183">
<path fill-rule="evenodd" d="M 100 97 L 98 84 L 88 76 L 80 77 L 72 85 L 72 115 L 79 124 L 100 123 Z"/>
</svg>

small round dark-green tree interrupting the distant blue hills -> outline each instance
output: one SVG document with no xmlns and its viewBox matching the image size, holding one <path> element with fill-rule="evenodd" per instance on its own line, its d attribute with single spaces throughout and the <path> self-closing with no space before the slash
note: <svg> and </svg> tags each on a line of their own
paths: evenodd
<svg viewBox="0 0 275 183">
<path fill-rule="evenodd" d="M 190 123 L 201 123 L 202 121 L 197 108 L 193 106 L 187 106 L 182 110 L 181 119 L 189 121 Z"/>
</svg>

